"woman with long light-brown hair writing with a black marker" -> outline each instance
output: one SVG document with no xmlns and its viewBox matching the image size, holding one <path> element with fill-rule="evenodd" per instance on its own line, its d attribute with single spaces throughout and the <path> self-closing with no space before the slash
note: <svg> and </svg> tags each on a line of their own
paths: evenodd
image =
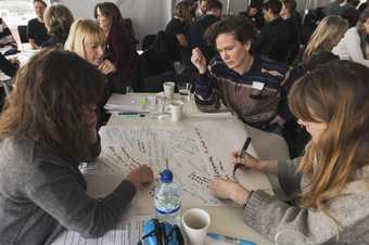
<svg viewBox="0 0 369 245">
<path fill-rule="evenodd" d="M 369 244 L 368 77 L 369 68 L 347 61 L 308 73 L 292 87 L 289 102 L 311 136 L 303 158 L 239 160 L 277 172 L 283 195 L 219 178 L 211 184 L 215 195 L 243 207 L 244 222 L 276 244 Z"/>
</svg>

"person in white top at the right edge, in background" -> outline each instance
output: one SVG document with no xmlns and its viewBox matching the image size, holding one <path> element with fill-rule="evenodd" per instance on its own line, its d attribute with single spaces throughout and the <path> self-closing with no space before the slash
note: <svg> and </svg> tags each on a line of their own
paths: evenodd
<svg viewBox="0 0 369 245">
<path fill-rule="evenodd" d="M 349 60 L 369 67 L 369 9 L 366 9 L 355 27 L 349 28 L 332 52 L 341 60 Z"/>
</svg>

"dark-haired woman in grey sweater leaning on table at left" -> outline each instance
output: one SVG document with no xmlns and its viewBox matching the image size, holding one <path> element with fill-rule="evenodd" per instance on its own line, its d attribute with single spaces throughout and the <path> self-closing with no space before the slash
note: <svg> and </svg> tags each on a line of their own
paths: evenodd
<svg viewBox="0 0 369 245">
<path fill-rule="evenodd" d="M 92 198 L 78 170 L 100 154 L 97 103 L 103 76 L 77 54 L 44 49 L 22 67 L 0 116 L 2 244 L 50 244 L 63 230 L 97 237 L 114 229 L 144 165 L 106 197 Z"/>
</svg>

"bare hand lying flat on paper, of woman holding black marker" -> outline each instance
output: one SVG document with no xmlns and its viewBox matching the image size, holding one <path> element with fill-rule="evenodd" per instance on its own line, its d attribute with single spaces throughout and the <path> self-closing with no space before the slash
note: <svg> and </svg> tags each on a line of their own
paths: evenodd
<svg viewBox="0 0 369 245">
<path fill-rule="evenodd" d="M 215 196 L 221 199 L 231 199 L 239 206 L 243 206 L 250 192 L 242 185 L 231 180 L 214 178 L 211 182 L 211 190 Z"/>
</svg>

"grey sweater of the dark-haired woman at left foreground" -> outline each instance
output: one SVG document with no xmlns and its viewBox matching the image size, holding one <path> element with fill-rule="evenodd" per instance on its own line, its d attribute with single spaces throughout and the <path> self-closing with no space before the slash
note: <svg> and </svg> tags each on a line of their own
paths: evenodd
<svg viewBox="0 0 369 245">
<path fill-rule="evenodd" d="M 100 141 L 91 156 L 100 154 Z M 0 244 L 50 244 L 63 230 L 96 237 L 113 229 L 136 190 L 123 181 L 102 199 L 86 193 L 78 163 L 27 138 L 0 140 Z"/>
</svg>

